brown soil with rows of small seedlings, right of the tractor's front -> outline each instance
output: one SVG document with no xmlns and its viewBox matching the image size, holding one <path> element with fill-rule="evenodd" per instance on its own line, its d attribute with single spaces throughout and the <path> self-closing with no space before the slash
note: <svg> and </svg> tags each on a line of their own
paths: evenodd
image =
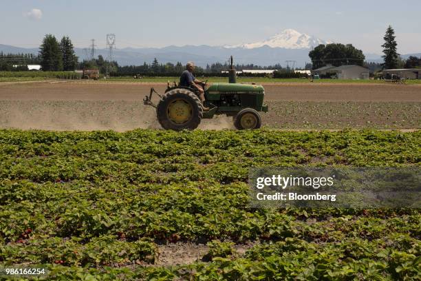
<svg viewBox="0 0 421 281">
<path fill-rule="evenodd" d="M 263 124 L 274 128 L 419 128 L 421 103 L 270 101 Z"/>
</svg>

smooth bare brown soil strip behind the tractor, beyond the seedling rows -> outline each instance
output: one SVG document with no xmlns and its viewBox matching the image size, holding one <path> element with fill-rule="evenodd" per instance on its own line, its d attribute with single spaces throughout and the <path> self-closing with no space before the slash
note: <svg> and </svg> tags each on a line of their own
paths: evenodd
<svg viewBox="0 0 421 281">
<path fill-rule="evenodd" d="M 358 83 L 263 84 L 271 101 L 418 101 L 421 85 Z M 166 83 L 0 83 L 0 100 L 142 101 L 151 87 L 164 92 Z"/>
</svg>

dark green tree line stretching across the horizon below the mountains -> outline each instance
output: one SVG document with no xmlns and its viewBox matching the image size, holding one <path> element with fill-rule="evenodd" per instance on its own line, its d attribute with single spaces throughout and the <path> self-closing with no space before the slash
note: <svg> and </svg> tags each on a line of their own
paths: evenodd
<svg viewBox="0 0 421 281">
<path fill-rule="evenodd" d="M 402 60 L 398 54 L 398 44 L 396 43 L 395 32 L 389 25 L 383 37 L 385 43 L 382 45 L 384 63 L 367 63 L 362 50 L 358 50 L 352 44 L 332 43 L 319 45 L 310 51 L 311 64 L 305 69 L 317 69 L 325 65 L 361 65 L 368 67 L 370 71 L 376 72 L 382 69 L 393 68 L 417 68 L 421 67 L 421 57 L 410 56 L 406 61 Z M 185 70 L 182 63 L 159 63 L 154 59 L 152 63 L 144 62 L 143 65 L 118 65 L 117 61 L 106 61 L 101 55 L 97 59 L 78 62 L 78 56 L 74 52 L 74 45 L 69 37 L 63 37 L 60 42 L 52 34 L 46 34 L 40 46 L 39 54 L 3 54 L 0 52 L 0 70 L 22 71 L 28 70 L 28 64 L 39 64 L 44 71 L 73 71 L 78 69 L 99 69 L 101 73 L 108 72 L 111 76 L 173 76 Z M 225 63 L 212 63 L 206 67 L 196 67 L 197 75 L 220 74 L 222 70 L 228 70 L 230 65 Z M 254 64 L 237 64 L 236 70 L 277 70 L 282 73 L 288 72 L 288 67 L 283 68 L 279 63 L 266 67 Z"/>
</svg>

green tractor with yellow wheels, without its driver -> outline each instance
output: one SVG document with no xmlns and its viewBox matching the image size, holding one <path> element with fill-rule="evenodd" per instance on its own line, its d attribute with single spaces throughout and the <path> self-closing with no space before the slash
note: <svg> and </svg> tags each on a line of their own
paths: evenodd
<svg viewBox="0 0 421 281">
<path fill-rule="evenodd" d="M 180 87 L 176 83 L 160 95 L 153 88 L 145 96 L 144 104 L 156 108 L 158 121 L 164 129 L 180 131 L 196 129 L 202 118 L 213 118 L 215 114 L 233 116 L 237 129 L 258 129 L 261 126 L 259 112 L 268 112 L 268 105 L 263 104 L 265 90 L 261 85 L 236 83 L 236 72 L 231 56 L 229 83 L 214 83 L 203 86 L 205 103 L 199 100 L 199 93 L 192 87 Z M 152 103 L 152 94 L 160 97 L 158 105 Z M 204 112 L 203 106 L 209 110 Z"/>
</svg>

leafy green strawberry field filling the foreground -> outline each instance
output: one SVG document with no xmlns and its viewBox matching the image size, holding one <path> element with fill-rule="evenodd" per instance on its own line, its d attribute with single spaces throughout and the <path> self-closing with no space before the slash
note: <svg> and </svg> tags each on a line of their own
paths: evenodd
<svg viewBox="0 0 421 281">
<path fill-rule="evenodd" d="M 0 130 L 0 262 L 46 264 L 50 280 L 417 280 L 420 209 L 252 209 L 247 180 L 266 165 L 417 167 L 420 143 L 420 132 Z M 215 240 L 256 244 L 236 254 Z M 209 242 L 211 261 L 151 267 L 173 242 Z"/>
</svg>

